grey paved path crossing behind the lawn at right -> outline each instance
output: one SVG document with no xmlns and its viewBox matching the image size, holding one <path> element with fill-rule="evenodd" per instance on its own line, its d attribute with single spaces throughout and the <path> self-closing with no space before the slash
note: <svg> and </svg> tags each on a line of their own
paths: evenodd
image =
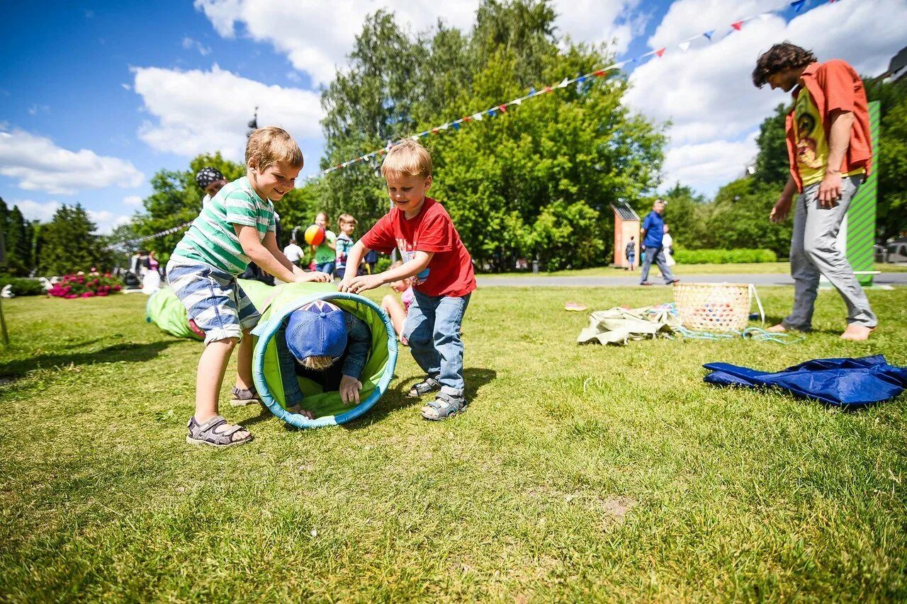
<svg viewBox="0 0 907 604">
<path fill-rule="evenodd" d="M 617 271 L 615 271 L 617 272 Z M 680 278 L 688 282 L 705 283 L 752 283 L 757 286 L 791 286 L 794 279 L 785 273 L 776 274 L 727 274 L 727 275 L 682 275 Z M 664 283 L 661 278 L 652 278 L 653 283 L 660 286 Z M 635 276 L 614 277 L 588 277 L 588 276 L 561 276 L 561 277 L 495 277 L 494 275 L 480 275 L 476 277 L 479 287 L 636 287 L 639 286 L 639 272 Z M 883 273 L 873 279 L 874 285 L 904 286 L 907 285 L 907 273 Z"/>
</svg>

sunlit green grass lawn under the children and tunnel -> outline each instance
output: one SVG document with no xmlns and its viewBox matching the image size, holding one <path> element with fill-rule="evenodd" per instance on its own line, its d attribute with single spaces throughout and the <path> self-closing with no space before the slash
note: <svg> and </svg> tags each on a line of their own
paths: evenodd
<svg viewBox="0 0 907 604">
<path fill-rule="evenodd" d="M 775 318 L 792 292 L 760 288 Z M 4 300 L 0 600 L 907 599 L 907 395 L 843 413 L 700 367 L 907 365 L 907 288 L 869 292 L 868 343 L 831 291 L 791 346 L 577 346 L 561 310 L 665 294 L 479 290 L 467 413 L 422 420 L 403 354 L 345 427 L 224 405 L 256 440 L 223 451 L 184 442 L 200 344 L 145 297 Z"/>
</svg>

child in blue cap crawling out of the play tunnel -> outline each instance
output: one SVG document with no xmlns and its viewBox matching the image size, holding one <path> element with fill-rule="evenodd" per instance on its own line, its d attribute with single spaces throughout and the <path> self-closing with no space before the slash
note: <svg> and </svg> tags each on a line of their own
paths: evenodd
<svg viewBox="0 0 907 604">
<path fill-rule="evenodd" d="M 359 404 L 360 375 L 372 347 L 366 322 L 325 300 L 316 300 L 290 314 L 274 338 L 287 411 L 314 419 L 303 406 L 297 376 L 324 390 L 337 390 L 346 404 Z"/>
</svg>

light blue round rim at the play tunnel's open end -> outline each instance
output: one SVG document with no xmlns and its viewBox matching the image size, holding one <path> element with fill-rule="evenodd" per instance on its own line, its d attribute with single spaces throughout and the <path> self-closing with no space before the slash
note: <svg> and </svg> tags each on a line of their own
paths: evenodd
<svg viewBox="0 0 907 604">
<path fill-rule="evenodd" d="M 342 414 L 325 415 L 310 420 L 303 415 L 289 413 L 280 406 L 277 400 L 271 395 L 268 383 L 265 381 L 265 351 L 268 348 L 271 339 L 277 334 L 280 326 L 283 325 L 284 319 L 290 313 L 310 302 L 332 299 L 351 300 L 359 304 L 365 304 L 366 307 L 370 307 L 374 310 L 375 313 L 378 314 L 378 317 L 381 317 L 387 335 L 387 363 L 385 364 L 385 371 L 381 375 L 381 379 L 375 384 L 375 390 L 366 397 L 366 400 L 361 401 L 355 407 Z M 259 325 L 252 333 L 258 336 L 258 343 L 255 346 L 255 351 L 252 356 L 252 378 L 255 382 L 255 387 L 258 390 L 258 395 L 261 396 L 261 402 L 268 407 L 268 411 L 270 411 L 271 414 L 274 414 L 275 417 L 297 428 L 321 428 L 328 425 L 346 424 L 347 422 L 355 420 L 357 417 L 366 414 L 366 412 L 378 402 L 387 391 L 387 386 L 390 385 L 391 380 L 394 379 L 394 370 L 398 354 L 394 324 L 391 323 L 391 319 L 387 316 L 384 309 L 367 297 L 358 296 L 356 294 L 347 294 L 345 292 L 320 292 L 310 296 L 300 297 L 297 302 L 284 308 L 279 315 L 268 318 L 268 321 L 264 326 Z"/>
</svg>

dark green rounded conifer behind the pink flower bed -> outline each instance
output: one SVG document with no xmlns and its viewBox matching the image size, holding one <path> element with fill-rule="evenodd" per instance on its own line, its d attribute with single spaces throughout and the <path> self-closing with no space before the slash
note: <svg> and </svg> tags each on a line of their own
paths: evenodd
<svg viewBox="0 0 907 604">
<path fill-rule="evenodd" d="M 81 204 L 63 205 L 41 229 L 41 272 L 63 275 L 92 267 L 101 268 L 105 253 L 93 235 L 96 225 Z"/>
</svg>

